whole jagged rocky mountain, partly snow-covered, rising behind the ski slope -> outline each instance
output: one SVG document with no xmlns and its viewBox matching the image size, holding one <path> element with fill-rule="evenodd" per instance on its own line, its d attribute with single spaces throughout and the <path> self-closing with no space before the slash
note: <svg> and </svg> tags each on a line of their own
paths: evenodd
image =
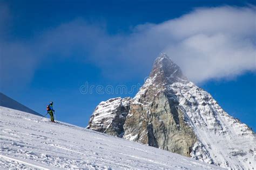
<svg viewBox="0 0 256 170">
<path fill-rule="evenodd" d="M 253 169 L 255 134 L 162 53 L 131 98 L 98 105 L 89 129 L 230 169 Z"/>
</svg>

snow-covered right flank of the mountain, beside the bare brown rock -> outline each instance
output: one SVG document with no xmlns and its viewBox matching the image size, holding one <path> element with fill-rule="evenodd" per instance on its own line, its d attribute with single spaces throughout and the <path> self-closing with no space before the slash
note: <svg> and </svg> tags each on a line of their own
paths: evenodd
<svg viewBox="0 0 256 170">
<path fill-rule="evenodd" d="M 210 94 L 191 82 L 173 83 L 169 88 L 198 139 L 192 158 L 230 169 L 256 167 L 255 133 L 246 124 L 228 115 Z"/>
</svg>

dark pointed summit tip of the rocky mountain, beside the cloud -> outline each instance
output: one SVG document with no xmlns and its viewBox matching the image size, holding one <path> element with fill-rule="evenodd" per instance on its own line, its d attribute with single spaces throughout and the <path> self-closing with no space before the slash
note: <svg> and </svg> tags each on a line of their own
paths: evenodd
<svg viewBox="0 0 256 170">
<path fill-rule="evenodd" d="M 160 84 L 188 81 L 180 67 L 166 53 L 161 53 L 154 61 L 150 77 Z"/>
</svg>

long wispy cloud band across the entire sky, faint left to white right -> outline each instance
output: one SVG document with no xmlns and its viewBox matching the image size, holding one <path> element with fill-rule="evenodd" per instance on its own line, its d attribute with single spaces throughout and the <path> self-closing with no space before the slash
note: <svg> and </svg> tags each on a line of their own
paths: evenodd
<svg viewBox="0 0 256 170">
<path fill-rule="evenodd" d="M 105 69 L 106 76 L 132 76 L 149 72 L 160 52 L 169 54 L 192 81 L 233 77 L 256 69 L 255 18 L 255 6 L 199 8 L 161 24 L 137 25 L 131 33 L 114 35 L 104 26 L 76 19 L 26 42 L 0 38 L 1 78 L 3 82 L 29 81 L 37 65 L 51 54 L 63 58 L 73 53 Z"/>
</svg>

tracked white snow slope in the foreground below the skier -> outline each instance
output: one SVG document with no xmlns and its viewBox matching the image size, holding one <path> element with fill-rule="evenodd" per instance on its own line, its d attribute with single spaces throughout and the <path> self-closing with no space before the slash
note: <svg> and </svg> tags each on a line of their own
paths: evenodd
<svg viewBox="0 0 256 170">
<path fill-rule="evenodd" d="M 0 169 L 221 169 L 158 148 L 0 107 Z"/>
</svg>

